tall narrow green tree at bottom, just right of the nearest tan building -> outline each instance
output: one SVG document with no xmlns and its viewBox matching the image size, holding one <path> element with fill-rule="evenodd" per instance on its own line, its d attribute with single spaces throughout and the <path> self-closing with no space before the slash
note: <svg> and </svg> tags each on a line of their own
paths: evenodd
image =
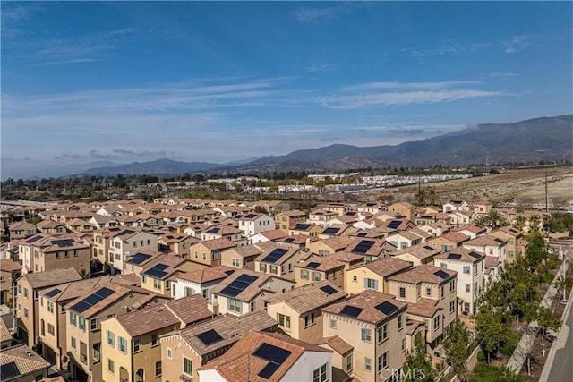
<svg viewBox="0 0 573 382">
<path fill-rule="evenodd" d="M 469 329 L 460 320 L 452 323 L 448 336 L 442 342 L 444 351 L 449 358 L 449 364 L 461 381 L 469 379 L 466 362 L 472 353 L 472 336 Z"/>
</svg>

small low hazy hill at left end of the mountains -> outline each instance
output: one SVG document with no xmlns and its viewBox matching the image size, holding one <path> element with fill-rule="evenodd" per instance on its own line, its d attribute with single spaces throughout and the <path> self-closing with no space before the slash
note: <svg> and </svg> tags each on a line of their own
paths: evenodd
<svg viewBox="0 0 573 382">
<path fill-rule="evenodd" d="M 198 173 L 218 167 L 214 163 L 206 162 L 178 162 L 171 159 L 158 159 L 152 162 L 133 162 L 128 165 L 96 167 L 86 170 L 86 175 L 177 175 L 185 173 Z"/>
</svg>

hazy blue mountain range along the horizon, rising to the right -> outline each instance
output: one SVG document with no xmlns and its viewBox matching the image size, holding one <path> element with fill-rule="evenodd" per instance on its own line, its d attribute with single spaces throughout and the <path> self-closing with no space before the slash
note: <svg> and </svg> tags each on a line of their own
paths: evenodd
<svg viewBox="0 0 573 382">
<path fill-rule="evenodd" d="M 338 171 L 365 167 L 463 166 L 571 161 L 573 115 L 516 123 L 483 123 L 458 132 L 407 141 L 396 146 L 355 147 L 335 144 L 262 157 L 242 164 L 178 162 L 158 159 L 122 166 L 90 168 L 83 174 L 175 175 L 184 173 L 261 174 L 286 171 Z"/>
</svg>

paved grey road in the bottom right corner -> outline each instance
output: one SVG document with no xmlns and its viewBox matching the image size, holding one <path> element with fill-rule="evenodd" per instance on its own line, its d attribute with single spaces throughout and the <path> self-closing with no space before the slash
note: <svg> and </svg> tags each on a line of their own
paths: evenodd
<svg viewBox="0 0 573 382">
<path fill-rule="evenodd" d="M 569 297 L 569 303 L 567 304 L 567 312 L 565 322 L 563 327 L 560 329 L 560 333 L 553 344 L 555 348 L 555 358 L 552 360 L 552 364 L 545 366 L 550 367 L 549 373 L 546 369 L 543 369 L 543 374 L 539 379 L 540 382 L 545 381 L 570 381 L 573 380 L 571 377 L 571 370 L 573 369 L 573 314 L 571 314 L 571 303 L 573 299 Z M 553 350 L 553 349 L 552 349 Z M 551 352 L 550 352 L 551 356 Z M 550 360 L 547 360 L 548 362 Z"/>
</svg>

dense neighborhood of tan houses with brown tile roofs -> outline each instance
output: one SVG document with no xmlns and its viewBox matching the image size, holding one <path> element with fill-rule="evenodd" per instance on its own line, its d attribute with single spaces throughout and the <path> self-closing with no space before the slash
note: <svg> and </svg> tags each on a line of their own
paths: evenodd
<svg viewBox="0 0 573 382">
<path fill-rule="evenodd" d="M 18 380 L 398 381 L 419 349 L 448 364 L 452 327 L 475 332 L 483 294 L 529 245 L 518 213 L 479 225 L 483 200 L 259 206 L 23 208 L 0 259 L 15 317 L 3 375 L 30 354 Z M 90 228 L 74 230 L 75 216 Z"/>
</svg>

